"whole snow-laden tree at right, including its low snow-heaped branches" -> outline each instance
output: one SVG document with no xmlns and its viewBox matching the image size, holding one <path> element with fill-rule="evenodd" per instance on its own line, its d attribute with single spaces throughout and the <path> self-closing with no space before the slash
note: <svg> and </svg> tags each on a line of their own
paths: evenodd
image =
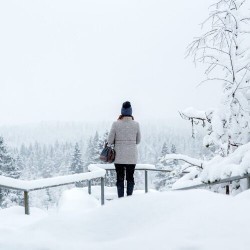
<svg viewBox="0 0 250 250">
<path fill-rule="evenodd" d="M 194 61 L 207 65 L 206 81 L 222 83 L 222 97 L 216 109 L 199 111 L 188 108 L 181 112 L 184 119 L 194 125 L 201 124 L 207 134 L 203 144 L 211 149 L 208 159 L 194 159 L 183 155 L 170 155 L 166 159 L 179 159 L 193 167 L 177 182 L 214 182 L 248 170 L 236 167 L 249 155 L 250 142 L 250 11 L 247 0 L 220 0 L 211 6 L 209 17 L 203 23 L 205 32 L 188 48 Z M 215 156 L 213 158 L 213 156 Z M 211 159 L 212 158 L 212 159 Z M 247 158 L 248 159 L 248 158 Z M 243 164 L 243 165 L 244 165 Z M 246 164 L 247 165 L 247 164 Z M 189 167 L 189 166 L 188 166 Z M 233 192 L 244 190 L 241 182 L 233 182 Z M 182 185 L 181 185 L 182 186 Z M 223 185 L 212 190 L 224 190 Z"/>
</svg>

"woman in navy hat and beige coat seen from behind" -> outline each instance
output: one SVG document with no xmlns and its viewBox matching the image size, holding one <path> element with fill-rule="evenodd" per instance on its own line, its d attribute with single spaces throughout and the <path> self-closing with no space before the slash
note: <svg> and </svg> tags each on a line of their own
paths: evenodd
<svg viewBox="0 0 250 250">
<path fill-rule="evenodd" d="M 108 136 L 108 144 L 115 145 L 115 170 L 118 197 L 124 196 L 126 171 L 127 195 L 134 190 L 134 171 L 137 163 L 137 144 L 141 141 L 139 123 L 134 121 L 130 102 L 124 102 L 118 121 L 114 122 Z"/>
</svg>

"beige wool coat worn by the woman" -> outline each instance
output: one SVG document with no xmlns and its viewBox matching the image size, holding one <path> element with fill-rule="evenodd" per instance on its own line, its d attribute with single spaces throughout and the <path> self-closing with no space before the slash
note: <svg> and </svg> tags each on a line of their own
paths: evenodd
<svg viewBox="0 0 250 250">
<path fill-rule="evenodd" d="M 123 117 L 112 124 L 108 144 L 115 146 L 116 164 L 136 164 L 138 160 L 137 144 L 141 141 L 139 123 L 132 117 Z"/>
</svg>

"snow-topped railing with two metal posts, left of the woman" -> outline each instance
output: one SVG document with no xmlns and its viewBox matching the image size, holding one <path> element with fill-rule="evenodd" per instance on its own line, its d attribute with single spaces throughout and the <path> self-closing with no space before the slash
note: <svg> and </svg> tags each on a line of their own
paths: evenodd
<svg viewBox="0 0 250 250">
<path fill-rule="evenodd" d="M 18 180 L 5 176 L 0 176 L 0 188 L 13 189 L 24 192 L 24 207 L 25 214 L 30 214 L 29 209 L 29 192 L 35 190 L 41 190 L 52 187 L 59 187 L 69 184 L 74 184 L 76 182 L 88 180 L 91 182 L 93 179 L 101 178 L 101 204 L 104 204 L 104 177 L 106 171 L 98 166 L 89 166 L 89 171 L 87 173 L 72 174 L 65 176 L 58 176 L 40 180 Z"/>
</svg>

